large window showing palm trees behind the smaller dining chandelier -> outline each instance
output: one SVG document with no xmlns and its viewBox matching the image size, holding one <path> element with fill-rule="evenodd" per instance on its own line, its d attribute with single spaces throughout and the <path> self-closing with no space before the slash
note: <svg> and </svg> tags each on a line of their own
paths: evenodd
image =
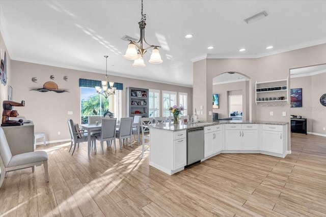
<svg viewBox="0 0 326 217">
<path fill-rule="evenodd" d="M 88 123 L 88 116 L 103 116 L 108 111 L 114 117 L 121 118 L 121 90 L 116 90 L 115 95 L 105 99 L 93 87 L 80 87 L 80 118 L 81 123 Z"/>
</svg>

